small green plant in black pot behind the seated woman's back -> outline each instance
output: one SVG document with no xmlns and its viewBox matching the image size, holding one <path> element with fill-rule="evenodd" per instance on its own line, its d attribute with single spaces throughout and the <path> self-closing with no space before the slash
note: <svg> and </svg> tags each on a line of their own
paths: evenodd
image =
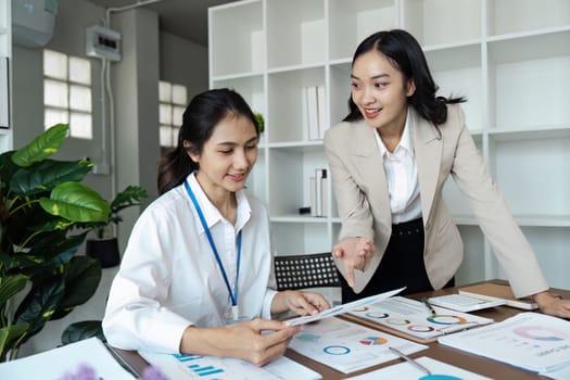
<svg viewBox="0 0 570 380">
<path fill-rule="evenodd" d="M 121 262 L 117 238 L 112 235 L 112 225 L 123 221 L 119 212 L 140 204 L 142 198 L 149 197 L 147 190 L 139 186 L 127 186 L 125 190 L 116 194 L 111 202 L 109 217 L 104 221 L 92 223 L 90 228 L 96 239 L 88 238 L 86 242 L 86 254 L 97 258 L 103 268 L 113 267 Z"/>
</svg>

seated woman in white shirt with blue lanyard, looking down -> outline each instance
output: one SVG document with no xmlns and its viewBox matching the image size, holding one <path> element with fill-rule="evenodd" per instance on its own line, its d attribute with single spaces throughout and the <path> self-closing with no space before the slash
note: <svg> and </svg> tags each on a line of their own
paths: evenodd
<svg viewBox="0 0 570 380">
<path fill-rule="evenodd" d="M 299 331 L 269 320 L 273 313 L 329 307 L 317 293 L 274 290 L 267 211 L 243 190 L 258 140 L 237 92 L 192 99 L 178 147 L 159 168 L 161 197 L 137 220 L 111 287 L 111 345 L 264 365 Z"/>
</svg>

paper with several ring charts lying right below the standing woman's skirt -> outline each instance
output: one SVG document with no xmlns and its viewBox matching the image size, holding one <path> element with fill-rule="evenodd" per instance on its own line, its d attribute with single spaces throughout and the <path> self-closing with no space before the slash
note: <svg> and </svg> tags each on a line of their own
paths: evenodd
<svg viewBox="0 0 570 380">
<path fill-rule="evenodd" d="M 428 308 L 422 302 L 400 295 L 353 309 L 347 315 L 365 325 L 421 343 L 493 322 L 491 318 L 440 306 Z"/>
</svg>

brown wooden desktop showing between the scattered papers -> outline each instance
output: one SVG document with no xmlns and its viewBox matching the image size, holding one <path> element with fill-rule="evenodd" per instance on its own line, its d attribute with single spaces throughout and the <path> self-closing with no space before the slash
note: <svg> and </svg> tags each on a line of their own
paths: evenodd
<svg viewBox="0 0 570 380">
<path fill-rule="evenodd" d="M 497 283 L 505 283 L 505 281 L 502 280 L 492 280 L 489 282 L 497 282 Z M 570 299 L 570 291 L 567 290 L 558 290 L 555 289 L 555 291 L 558 294 L 561 294 L 562 296 Z M 448 289 L 442 289 L 436 290 L 433 292 L 426 292 L 426 293 L 419 293 L 410 295 L 413 299 L 420 299 L 422 296 L 432 296 L 432 295 L 441 295 L 441 294 L 449 294 L 455 293 L 456 288 L 448 288 Z M 473 312 L 472 314 L 477 314 L 482 317 L 493 318 L 496 321 L 501 321 L 503 319 L 506 319 L 508 317 L 511 317 L 522 311 L 507 307 L 507 306 L 499 306 L 494 307 L 485 311 L 479 311 Z M 531 372 L 524 369 L 520 369 L 507 364 L 503 364 L 501 362 L 492 360 L 484 358 L 482 356 L 469 354 L 464 351 L 459 351 L 456 349 L 452 349 L 442 344 L 439 344 L 438 342 L 428 343 L 429 346 L 428 350 L 423 350 L 421 352 L 418 352 L 416 354 L 411 354 L 411 357 L 421 357 L 421 356 L 429 356 L 431 358 L 448 363 L 451 365 L 461 367 L 464 369 L 487 376 L 493 379 L 518 379 L 518 380 L 528 380 L 528 379 L 547 379 L 545 377 L 539 376 L 535 372 Z M 148 366 L 147 362 L 142 359 L 136 352 L 127 352 L 127 351 L 121 351 L 121 355 L 139 372 L 142 371 L 142 369 Z M 359 373 L 365 373 L 373 369 L 378 369 L 381 367 L 390 366 L 393 364 L 401 363 L 402 359 L 395 359 L 391 360 L 378 366 L 369 367 L 365 370 L 352 372 L 352 373 L 342 373 L 334 369 L 331 369 L 318 362 L 314 362 L 301 354 L 297 354 L 296 352 L 292 350 L 287 350 L 286 356 L 316 370 L 322 376 L 322 379 L 327 380 L 337 380 L 337 379 L 344 379 L 347 377 L 352 377 Z"/>
</svg>

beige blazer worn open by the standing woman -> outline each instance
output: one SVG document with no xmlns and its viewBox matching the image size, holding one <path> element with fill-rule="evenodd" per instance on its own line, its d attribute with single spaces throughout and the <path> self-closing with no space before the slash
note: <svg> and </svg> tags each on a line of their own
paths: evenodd
<svg viewBox="0 0 570 380">
<path fill-rule="evenodd" d="M 426 232 L 423 261 L 433 288 L 442 288 L 455 275 L 464 256 L 461 237 L 442 195 L 443 185 L 451 175 L 491 243 L 515 295 L 547 290 L 534 252 L 465 125 L 461 107 L 448 105 L 447 121 L 439 127 L 409 110 Z M 325 136 L 342 221 L 339 240 L 365 237 L 373 239 L 376 245 L 370 264 L 364 271 L 355 271 L 357 293 L 376 271 L 392 232 L 388 183 L 375 132 L 366 121 L 343 122 Z M 337 265 L 344 275 L 342 263 Z"/>
</svg>

